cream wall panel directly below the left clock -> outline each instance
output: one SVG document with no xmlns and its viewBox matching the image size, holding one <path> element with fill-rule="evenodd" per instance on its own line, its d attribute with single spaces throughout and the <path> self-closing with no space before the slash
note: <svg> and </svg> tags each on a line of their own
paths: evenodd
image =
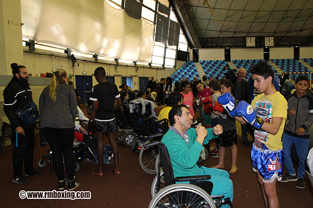
<svg viewBox="0 0 313 208">
<path fill-rule="evenodd" d="M 263 59 L 263 48 L 235 48 L 230 50 L 230 59 Z"/>
</svg>

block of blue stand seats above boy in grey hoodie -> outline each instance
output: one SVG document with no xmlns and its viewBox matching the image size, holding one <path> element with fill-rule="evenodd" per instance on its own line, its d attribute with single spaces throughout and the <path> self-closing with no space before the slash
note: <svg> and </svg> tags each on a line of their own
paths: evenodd
<svg viewBox="0 0 313 208">
<path fill-rule="evenodd" d="M 311 71 L 298 60 L 294 58 L 271 59 L 284 73 L 289 73 L 289 77 L 295 80 L 297 77 L 308 76 Z M 304 60 L 303 60 L 304 61 Z M 293 74 L 295 73 L 295 74 Z"/>
</svg>

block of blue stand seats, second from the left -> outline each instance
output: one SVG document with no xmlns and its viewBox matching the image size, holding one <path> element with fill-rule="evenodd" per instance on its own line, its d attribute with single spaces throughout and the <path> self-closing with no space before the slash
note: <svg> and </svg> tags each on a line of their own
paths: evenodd
<svg viewBox="0 0 313 208">
<path fill-rule="evenodd" d="M 200 64 L 205 76 L 213 78 L 222 78 L 225 73 L 223 69 L 226 65 L 228 65 L 225 60 L 200 60 Z"/>
</svg>

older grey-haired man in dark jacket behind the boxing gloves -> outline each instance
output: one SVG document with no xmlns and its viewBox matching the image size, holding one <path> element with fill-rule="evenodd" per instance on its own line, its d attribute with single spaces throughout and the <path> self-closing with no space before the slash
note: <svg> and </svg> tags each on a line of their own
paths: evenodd
<svg viewBox="0 0 313 208">
<path fill-rule="evenodd" d="M 249 83 L 244 79 L 246 71 L 244 68 L 239 68 L 237 79 L 233 82 L 232 95 L 236 98 L 237 103 L 244 100 L 250 103 L 250 89 Z M 244 145 L 251 145 L 252 142 L 248 140 L 248 126 L 241 124 L 241 137 Z"/>
</svg>

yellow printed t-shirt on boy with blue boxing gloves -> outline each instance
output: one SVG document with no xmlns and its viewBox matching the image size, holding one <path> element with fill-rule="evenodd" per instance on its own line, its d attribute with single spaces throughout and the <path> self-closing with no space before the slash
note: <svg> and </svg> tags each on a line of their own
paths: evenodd
<svg viewBox="0 0 313 208">
<path fill-rule="evenodd" d="M 273 117 L 282 117 L 283 121 L 280 124 L 276 135 L 268 133 L 262 129 L 254 131 L 255 140 L 264 143 L 270 150 L 280 150 L 283 148 L 282 135 L 284 131 L 285 121 L 287 118 L 287 101 L 282 94 L 276 92 L 272 95 L 265 95 L 264 93 L 256 96 L 252 102 L 257 115 L 261 117 L 264 122 L 272 123 Z"/>
</svg>

